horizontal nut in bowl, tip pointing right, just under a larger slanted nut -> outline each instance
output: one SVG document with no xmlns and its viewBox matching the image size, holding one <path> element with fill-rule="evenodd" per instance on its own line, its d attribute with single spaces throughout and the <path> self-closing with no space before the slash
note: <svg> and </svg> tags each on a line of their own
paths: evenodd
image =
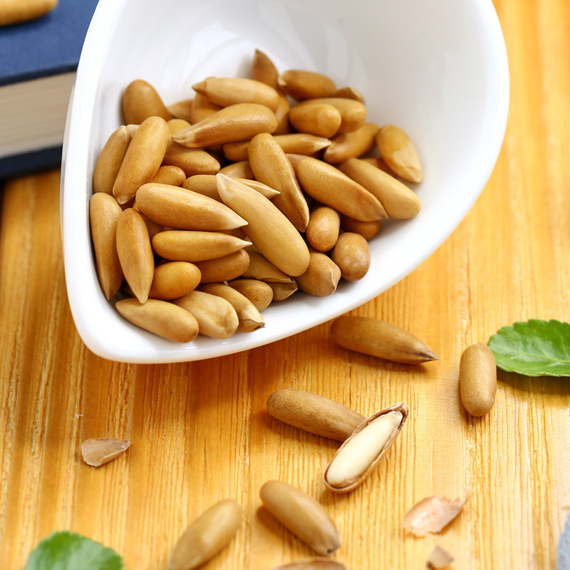
<svg viewBox="0 0 570 570">
<path fill-rule="evenodd" d="M 171 261 L 206 261 L 237 252 L 249 242 L 221 232 L 170 229 L 152 238 L 152 249 Z"/>
</svg>

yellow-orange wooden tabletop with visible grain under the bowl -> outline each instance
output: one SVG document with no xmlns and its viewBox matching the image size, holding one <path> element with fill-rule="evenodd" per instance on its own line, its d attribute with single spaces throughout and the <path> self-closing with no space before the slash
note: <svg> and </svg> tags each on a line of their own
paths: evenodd
<svg viewBox="0 0 570 570">
<path fill-rule="evenodd" d="M 554 569 L 570 505 L 567 378 L 499 372 L 489 415 L 462 409 L 464 348 L 528 318 L 570 320 L 570 2 L 496 0 L 511 72 L 507 134 L 480 199 L 445 244 L 353 314 L 422 338 L 440 360 L 389 363 L 334 345 L 330 323 L 247 353 L 140 366 L 94 356 L 71 318 L 63 275 L 59 172 L 4 185 L 0 228 L 0 568 L 22 569 L 56 529 L 113 547 L 128 570 L 167 567 L 202 510 L 233 497 L 236 539 L 208 569 L 263 570 L 311 551 L 259 509 L 286 480 L 326 505 L 356 569 L 420 569 L 435 544 L 455 569 Z M 460 192 L 461 189 L 457 189 Z M 410 420 L 378 472 L 332 496 L 321 472 L 338 447 L 272 420 L 278 388 Z M 131 440 L 95 469 L 89 437 Z M 471 499 L 438 535 L 405 532 L 432 494 Z"/>
</svg>

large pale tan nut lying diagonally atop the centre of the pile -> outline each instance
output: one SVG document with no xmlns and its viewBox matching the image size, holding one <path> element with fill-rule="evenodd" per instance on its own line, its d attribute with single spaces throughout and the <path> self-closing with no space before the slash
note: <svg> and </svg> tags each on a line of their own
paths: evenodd
<svg viewBox="0 0 570 570">
<path fill-rule="evenodd" d="M 218 174 L 218 192 L 224 204 L 247 220 L 244 232 L 259 252 L 290 276 L 309 266 L 309 249 L 284 214 L 251 188 Z"/>
</svg>

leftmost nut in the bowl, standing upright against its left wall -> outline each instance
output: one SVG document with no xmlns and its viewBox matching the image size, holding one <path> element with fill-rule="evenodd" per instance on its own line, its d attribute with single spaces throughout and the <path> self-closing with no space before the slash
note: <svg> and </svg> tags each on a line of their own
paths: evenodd
<svg viewBox="0 0 570 570">
<path fill-rule="evenodd" d="M 112 299 L 123 283 L 123 269 L 116 244 L 117 220 L 122 212 L 117 200 L 104 192 L 97 192 L 89 201 L 89 221 L 97 274 L 107 299 Z"/>
</svg>

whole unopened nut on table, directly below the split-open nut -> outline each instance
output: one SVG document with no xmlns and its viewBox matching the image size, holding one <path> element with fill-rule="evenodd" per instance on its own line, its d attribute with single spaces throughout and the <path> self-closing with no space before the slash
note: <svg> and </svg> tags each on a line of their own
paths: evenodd
<svg viewBox="0 0 570 570">
<path fill-rule="evenodd" d="M 336 524 L 322 504 L 283 481 L 268 481 L 259 495 L 266 509 L 317 554 L 328 556 L 341 546 Z"/>
</svg>

